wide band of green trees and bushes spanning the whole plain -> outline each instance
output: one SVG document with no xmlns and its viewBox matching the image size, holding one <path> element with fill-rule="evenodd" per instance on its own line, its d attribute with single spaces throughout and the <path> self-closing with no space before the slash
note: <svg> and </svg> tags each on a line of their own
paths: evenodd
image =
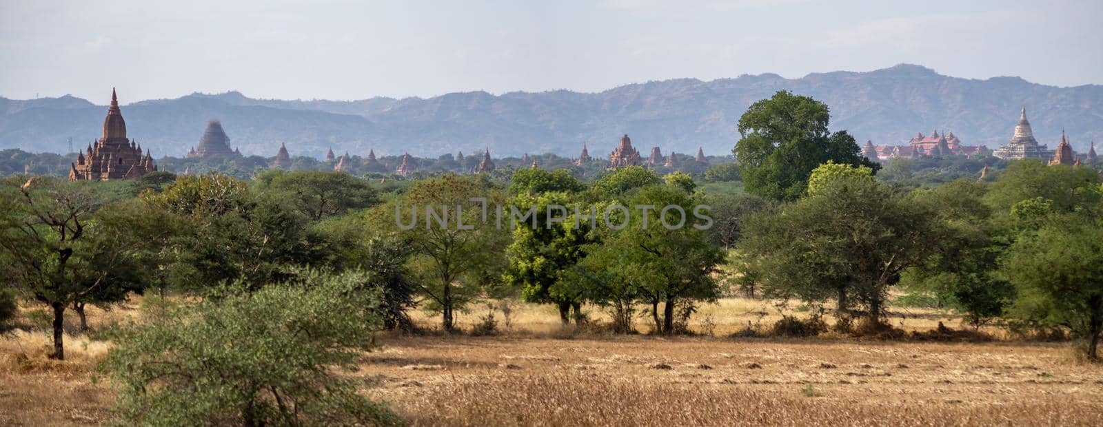
<svg viewBox="0 0 1103 427">
<path fill-rule="evenodd" d="M 974 327 L 1071 333 L 1099 358 L 1097 172 L 1021 161 L 984 180 L 915 188 L 880 178 L 886 169 L 828 122 L 823 103 L 779 92 L 740 120 L 738 165 L 696 178 L 640 166 L 592 179 L 568 168 L 382 183 L 279 169 L 249 180 L 12 176 L 0 185 L 7 306 L 13 295 L 46 308 L 63 359 L 68 313 L 87 328 L 88 304 L 186 297 L 119 329 L 108 358 L 122 414 L 151 424 L 387 423 L 328 368 L 347 366 L 374 330 L 417 328 L 415 307 L 453 332 L 456 314 L 488 297 L 553 305 L 564 324 L 586 322 L 590 305 L 614 332 L 636 332 L 644 318 L 671 335 L 731 284 L 818 308 L 784 321 L 816 331 L 831 310 L 835 328 L 865 333 L 891 331 L 889 298 L 902 292 Z M 700 185 L 736 179 L 747 194 Z M 10 311 L 2 299 L 0 314 Z M 476 328 L 492 330 L 484 320 Z M 293 374 L 275 375 L 281 366 Z"/>
</svg>

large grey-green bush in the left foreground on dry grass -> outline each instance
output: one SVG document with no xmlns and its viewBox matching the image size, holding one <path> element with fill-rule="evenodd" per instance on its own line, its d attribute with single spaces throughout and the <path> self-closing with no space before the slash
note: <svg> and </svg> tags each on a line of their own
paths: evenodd
<svg viewBox="0 0 1103 427">
<path fill-rule="evenodd" d="M 381 326 L 367 276 L 307 272 L 120 329 L 100 371 L 121 424 L 397 424 L 335 372 L 355 368 Z"/>
</svg>

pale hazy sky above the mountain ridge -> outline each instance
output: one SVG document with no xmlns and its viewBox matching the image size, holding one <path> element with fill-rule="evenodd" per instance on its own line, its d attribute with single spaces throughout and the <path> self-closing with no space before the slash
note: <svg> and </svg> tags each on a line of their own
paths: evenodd
<svg viewBox="0 0 1103 427">
<path fill-rule="evenodd" d="M 0 0 L 0 96 L 363 99 L 899 63 L 1103 84 L 1103 1 Z"/>
</svg>

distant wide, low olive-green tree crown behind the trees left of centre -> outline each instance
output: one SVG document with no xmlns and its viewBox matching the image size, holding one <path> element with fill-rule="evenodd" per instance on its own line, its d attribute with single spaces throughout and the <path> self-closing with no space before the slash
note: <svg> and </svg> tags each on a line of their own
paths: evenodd
<svg viewBox="0 0 1103 427">
<path fill-rule="evenodd" d="M 378 202 L 375 188 L 344 172 L 271 169 L 254 177 L 258 193 L 287 199 L 311 220 Z"/>
</svg>

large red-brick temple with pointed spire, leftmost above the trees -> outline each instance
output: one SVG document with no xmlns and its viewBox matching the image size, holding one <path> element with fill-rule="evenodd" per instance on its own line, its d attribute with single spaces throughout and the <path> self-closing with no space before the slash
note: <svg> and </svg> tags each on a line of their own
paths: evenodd
<svg viewBox="0 0 1103 427">
<path fill-rule="evenodd" d="M 88 144 L 69 163 L 71 180 L 108 180 L 140 178 L 157 171 L 149 150 L 142 155 L 141 145 L 127 139 L 127 123 L 119 110 L 119 100 L 111 88 L 111 105 L 104 118 L 104 134 L 95 144 Z"/>
</svg>

